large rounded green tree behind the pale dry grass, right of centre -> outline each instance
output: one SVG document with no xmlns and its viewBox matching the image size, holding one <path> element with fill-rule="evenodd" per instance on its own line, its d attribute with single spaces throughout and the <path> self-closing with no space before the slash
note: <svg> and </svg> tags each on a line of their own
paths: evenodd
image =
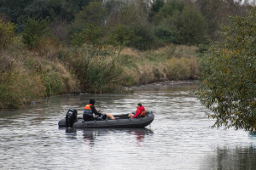
<svg viewBox="0 0 256 170">
<path fill-rule="evenodd" d="M 204 42 L 207 21 L 200 11 L 183 1 L 168 1 L 155 17 L 154 33 L 160 42 L 195 45 Z"/>
</svg>

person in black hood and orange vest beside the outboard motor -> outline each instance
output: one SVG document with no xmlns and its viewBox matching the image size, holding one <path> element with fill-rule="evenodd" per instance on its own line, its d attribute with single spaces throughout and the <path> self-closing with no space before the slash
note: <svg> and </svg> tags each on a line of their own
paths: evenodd
<svg viewBox="0 0 256 170">
<path fill-rule="evenodd" d="M 109 119 L 114 119 L 114 117 L 109 113 L 106 113 L 105 115 L 103 115 L 102 112 L 96 111 L 94 104 L 95 104 L 95 99 L 90 99 L 89 104 L 84 106 L 84 114 L 83 114 L 84 121 L 94 121 L 94 120 L 101 121 L 102 120 L 102 118 L 94 117 L 93 114 L 102 116 L 103 119 L 106 119 L 107 116 Z"/>
</svg>

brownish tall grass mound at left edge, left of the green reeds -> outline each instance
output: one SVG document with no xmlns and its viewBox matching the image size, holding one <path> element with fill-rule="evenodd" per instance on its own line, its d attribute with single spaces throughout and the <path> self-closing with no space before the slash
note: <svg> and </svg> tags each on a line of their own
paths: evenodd
<svg viewBox="0 0 256 170">
<path fill-rule="evenodd" d="M 76 78 L 59 61 L 11 48 L 0 52 L 0 108 L 17 108 L 45 96 L 73 93 Z"/>
</svg>

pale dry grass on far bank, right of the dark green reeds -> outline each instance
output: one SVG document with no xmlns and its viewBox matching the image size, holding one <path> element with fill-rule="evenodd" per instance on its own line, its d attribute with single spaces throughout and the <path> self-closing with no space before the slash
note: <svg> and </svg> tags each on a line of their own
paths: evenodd
<svg viewBox="0 0 256 170">
<path fill-rule="evenodd" d="M 146 52 L 125 48 L 120 53 L 119 65 L 130 77 L 128 85 L 195 79 L 198 71 L 196 50 L 194 46 L 183 45 L 169 45 Z"/>
</svg>

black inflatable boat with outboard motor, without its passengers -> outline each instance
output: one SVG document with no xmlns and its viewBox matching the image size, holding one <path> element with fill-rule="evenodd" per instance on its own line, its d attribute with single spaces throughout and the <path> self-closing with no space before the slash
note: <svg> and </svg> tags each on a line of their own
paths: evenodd
<svg viewBox="0 0 256 170">
<path fill-rule="evenodd" d="M 146 127 L 154 120 L 152 111 L 139 118 L 128 118 L 128 114 L 114 115 L 115 120 L 100 120 L 85 122 L 83 118 L 77 118 L 76 110 L 68 110 L 64 119 L 59 121 L 59 127 L 73 128 L 107 128 L 107 127 Z"/>
</svg>

